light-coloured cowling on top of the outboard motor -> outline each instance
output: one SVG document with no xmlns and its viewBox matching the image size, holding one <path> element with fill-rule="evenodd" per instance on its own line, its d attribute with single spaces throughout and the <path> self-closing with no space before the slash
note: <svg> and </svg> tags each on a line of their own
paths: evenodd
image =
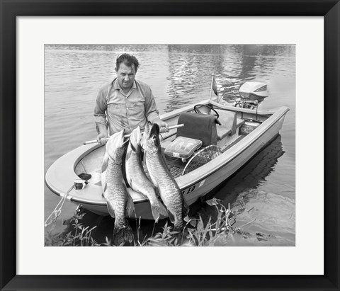
<svg viewBox="0 0 340 291">
<path fill-rule="evenodd" d="M 269 96 L 267 85 L 261 82 L 245 82 L 239 87 L 239 96 L 244 101 L 262 102 Z"/>
</svg>

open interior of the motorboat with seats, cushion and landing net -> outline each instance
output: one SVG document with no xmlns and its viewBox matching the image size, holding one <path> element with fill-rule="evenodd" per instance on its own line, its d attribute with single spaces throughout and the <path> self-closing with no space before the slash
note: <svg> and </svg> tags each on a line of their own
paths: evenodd
<svg viewBox="0 0 340 291">
<path fill-rule="evenodd" d="M 183 176 L 215 159 L 270 116 L 268 113 L 257 113 L 257 110 L 235 108 L 214 101 L 165 113 L 162 119 L 169 126 L 184 124 L 161 135 L 162 151 L 171 175 L 174 178 Z M 89 182 L 101 185 L 105 150 L 105 147 L 98 145 L 82 156 L 74 169 L 77 175 L 89 173 Z M 145 171 L 147 173 L 147 169 Z"/>
</svg>

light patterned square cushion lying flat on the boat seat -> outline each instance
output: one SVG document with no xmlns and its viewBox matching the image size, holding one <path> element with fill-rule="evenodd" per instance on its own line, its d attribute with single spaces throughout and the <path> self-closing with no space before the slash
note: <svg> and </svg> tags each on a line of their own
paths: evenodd
<svg viewBox="0 0 340 291">
<path fill-rule="evenodd" d="M 164 154 L 175 158 L 188 159 L 200 147 L 202 147 L 202 142 L 198 139 L 176 137 L 174 142 L 171 142 L 165 148 Z"/>
</svg>

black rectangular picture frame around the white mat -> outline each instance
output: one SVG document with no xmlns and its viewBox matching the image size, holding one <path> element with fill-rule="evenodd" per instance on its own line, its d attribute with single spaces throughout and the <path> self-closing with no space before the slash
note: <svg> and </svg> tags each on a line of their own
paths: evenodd
<svg viewBox="0 0 340 291">
<path fill-rule="evenodd" d="M 1 290 L 339 290 L 339 0 L 0 0 L 0 4 Z M 323 16 L 324 275 L 16 275 L 17 16 Z M 312 239 L 314 234 L 310 235 Z M 190 264 L 185 258 L 179 263 Z"/>
</svg>

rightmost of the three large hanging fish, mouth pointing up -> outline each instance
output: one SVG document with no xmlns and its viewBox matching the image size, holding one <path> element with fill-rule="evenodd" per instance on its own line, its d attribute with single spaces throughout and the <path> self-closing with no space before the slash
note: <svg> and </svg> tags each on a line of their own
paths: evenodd
<svg viewBox="0 0 340 291">
<path fill-rule="evenodd" d="M 149 171 L 152 183 L 159 189 L 161 198 L 168 210 L 169 219 L 174 223 L 174 230 L 181 233 L 183 218 L 188 215 L 189 208 L 183 199 L 181 189 L 174 177 L 171 176 L 165 157 L 162 154 L 159 125 L 152 125 L 147 122 L 142 146 L 145 150 L 147 171 Z"/>
</svg>

